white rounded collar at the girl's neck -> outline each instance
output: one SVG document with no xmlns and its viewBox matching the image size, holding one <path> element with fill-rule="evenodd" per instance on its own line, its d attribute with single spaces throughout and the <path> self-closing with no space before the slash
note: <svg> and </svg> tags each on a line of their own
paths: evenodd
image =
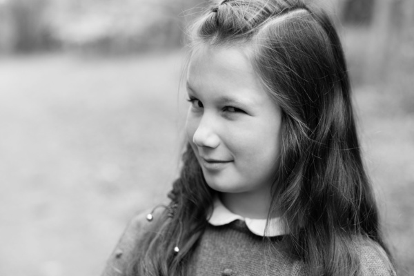
<svg viewBox="0 0 414 276">
<path fill-rule="evenodd" d="M 250 219 L 231 213 L 226 206 L 224 206 L 218 197 L 215 197 L 213 203 L 213 213 L 208 219 L 208 223 L 213 226 L 222 226 L 230 224 L 230 222 L 240 219 L 246 222 L 246 226 L 251 233 L 258 236 L 275 237 L 284 235 L 285 231 L 282 225 L 282 220 L 279 217 L 274 217 L 269 220 L 268 230 L 266 230 L 267 219 Z"/>
</svg>

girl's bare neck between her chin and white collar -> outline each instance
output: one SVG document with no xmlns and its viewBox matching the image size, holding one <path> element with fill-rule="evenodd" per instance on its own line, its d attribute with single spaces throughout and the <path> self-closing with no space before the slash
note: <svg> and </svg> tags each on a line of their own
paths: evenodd
<svg viewBox="0 0 414 276">
<path fill-rule="evenodd" d="M 270 190 L 256 193 L 220 193 L 221 202 L 236 215 L 250 219 L 267 219 L 270 209 Z"/>
</svg>

